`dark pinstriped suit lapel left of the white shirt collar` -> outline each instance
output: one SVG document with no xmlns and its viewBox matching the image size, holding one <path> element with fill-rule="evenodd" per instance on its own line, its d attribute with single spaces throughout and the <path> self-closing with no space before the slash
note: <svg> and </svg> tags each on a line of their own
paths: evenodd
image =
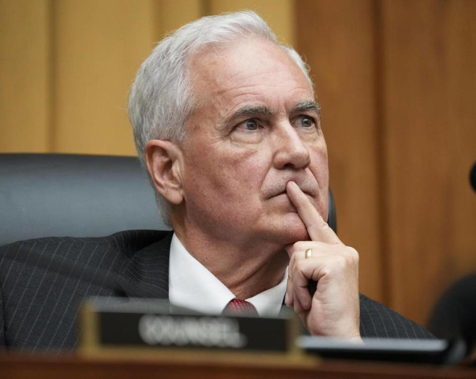
<svg viewBox="0 0 476 379">
<path fill-rule="evenodd" d="M 120 271 L 117 284 L 128 297 L 169 298 L 169 254 L 173 232 L 135 252 Z"/>
</svg>

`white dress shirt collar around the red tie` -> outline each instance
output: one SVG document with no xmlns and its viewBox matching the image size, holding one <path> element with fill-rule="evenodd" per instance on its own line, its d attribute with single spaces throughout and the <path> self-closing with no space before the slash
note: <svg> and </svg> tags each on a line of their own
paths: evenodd
<svg viewBox="0 0 476 379">
<path fill-rule="evenodd" d="M 259 316 L 276 316 L 283 304 L 288 269 L 281 282 L 246 301 Z M 174 233 L 170 245 L 169 300 L 172 305 L 207 314 L 221 314 L 236 296 L 193 255 Z"/>
</svg>

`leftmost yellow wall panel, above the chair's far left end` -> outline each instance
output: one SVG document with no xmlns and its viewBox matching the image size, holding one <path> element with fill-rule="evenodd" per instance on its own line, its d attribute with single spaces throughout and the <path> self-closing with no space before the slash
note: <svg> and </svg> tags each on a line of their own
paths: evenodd
<svg viewBox="0 0 476 379">
<path fill-rule="evenodd" d="M 0 151 L 50 148 L 49 2 L 0 0 Z"/>
</svg>

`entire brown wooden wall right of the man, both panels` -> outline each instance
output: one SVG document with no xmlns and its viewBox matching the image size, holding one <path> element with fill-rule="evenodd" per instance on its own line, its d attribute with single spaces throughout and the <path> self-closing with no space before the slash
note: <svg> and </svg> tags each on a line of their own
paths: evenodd
<svg viewBox="0 0 476 379">
<path fill-rule="evenodd" d="M 476 271 L 476 2 L 297 1 L 361 290 L 424 323 Z"/>
</svg>

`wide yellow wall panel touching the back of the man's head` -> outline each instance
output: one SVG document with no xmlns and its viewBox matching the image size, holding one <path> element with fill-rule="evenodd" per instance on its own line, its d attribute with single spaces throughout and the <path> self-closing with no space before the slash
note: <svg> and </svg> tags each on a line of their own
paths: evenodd
<svg viewBox="0 0 476 379">
<path fill-rule="evenodd" d="M 135 154 L 127 93 L 156 40 L 154 10 L 152 1 L 54 2 L 54 152 Z"/>
</svg>

